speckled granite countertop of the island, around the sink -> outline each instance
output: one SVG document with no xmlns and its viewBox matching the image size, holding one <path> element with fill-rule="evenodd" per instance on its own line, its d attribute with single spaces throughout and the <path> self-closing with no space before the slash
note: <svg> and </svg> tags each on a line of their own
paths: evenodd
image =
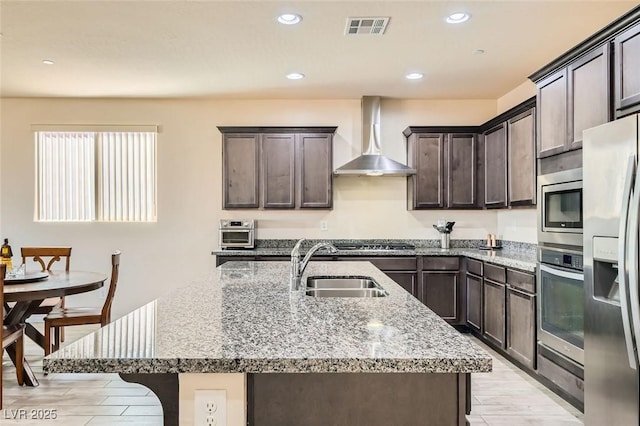
<svg viewBox="0 0 640 426">
<path fill-rule="evenodd" d="M 289 262 L 228 262 L 44 359 L 118 373 L 491 371 L 491 357 L 369 262 L 308 275 L 370 276 L 380 298 L 289 291 Z"/>
</svg>

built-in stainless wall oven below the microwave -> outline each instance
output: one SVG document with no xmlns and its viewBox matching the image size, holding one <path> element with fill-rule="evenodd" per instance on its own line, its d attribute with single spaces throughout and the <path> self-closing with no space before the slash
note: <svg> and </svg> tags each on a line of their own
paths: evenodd
<svg viewBox="0 0 640 426">
<path fill-rule="evenodd" d="M 584 274 L 582 253 L 539 249 L 538 338 L 584 365 Z"/>
</svg>

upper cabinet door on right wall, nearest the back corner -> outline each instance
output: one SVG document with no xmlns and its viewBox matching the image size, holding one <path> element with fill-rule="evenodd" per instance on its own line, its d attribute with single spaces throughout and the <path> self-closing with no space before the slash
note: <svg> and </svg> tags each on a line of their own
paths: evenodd
<svg viewBox="0 0 640 426">
<path fill-rule="evenodd" d="M 484 205 L 507 205 L 507 129 L 501 124 L 484 137 Z"/>
</svg>

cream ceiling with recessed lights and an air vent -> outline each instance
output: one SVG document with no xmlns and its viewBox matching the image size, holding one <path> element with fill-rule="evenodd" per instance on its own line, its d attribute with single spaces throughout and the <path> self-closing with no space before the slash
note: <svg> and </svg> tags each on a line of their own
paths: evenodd
<svg viewBox="0 0 640 426">
<path fill-rule="evenodd" d="M 0 94 L 496 99 L 637 4 L 0 0 Z M 445 23 L 461 10 L 469 21 Z M 303 20 L 279 24 L 283 12 Z M 384 35 L 344 34 L 348 17 L 372 16 L 390 17 Z"/>
</svg>

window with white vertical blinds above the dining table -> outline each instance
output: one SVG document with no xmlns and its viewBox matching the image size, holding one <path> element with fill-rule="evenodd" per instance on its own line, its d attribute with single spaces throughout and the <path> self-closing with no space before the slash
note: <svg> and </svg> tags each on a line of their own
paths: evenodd
<svg viewBox="0 0 640 426">
<path fill-rule="evenodd" d="M 156 134 L 155 126 L 38 126 L 35 220 L 154 222 Z"/>
</svg>

